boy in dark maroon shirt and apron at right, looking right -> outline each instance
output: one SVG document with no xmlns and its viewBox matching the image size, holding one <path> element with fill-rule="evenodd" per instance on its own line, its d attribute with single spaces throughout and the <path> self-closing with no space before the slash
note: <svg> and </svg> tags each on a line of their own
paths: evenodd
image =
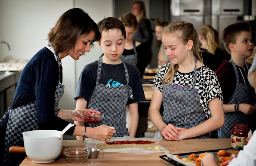
<svg viewBox="0 0 256 166">
<path fill-rule="evenodd" d="M 223 31 L 223 42 L 231 59 L 223 61 L 216 71 L 225 112 L 225 125 L 218 132 L 219 138 L 230 138 L 234 124 L 248 124 L 255 130 L 255 92 L 247 79 L 251 65 L 245 62 L 253 53 L 250 25 L 246 22 L 228 25 Z"/>
</svg>

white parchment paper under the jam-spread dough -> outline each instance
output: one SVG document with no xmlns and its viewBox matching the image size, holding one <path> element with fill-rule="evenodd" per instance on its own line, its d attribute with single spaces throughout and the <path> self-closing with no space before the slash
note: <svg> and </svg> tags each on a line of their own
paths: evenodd
<svg viewBox="0 0 256 166">
<path fill-rule="evenodd" d="M 113 137 L 111 140 L 114 141 L 132 141 L 132 140 L 153 140 L 155 142 L 160 142 L 163 139 L 163 137 L 159 137 L 159 138 L 134 138 L 134 137 L 130 137 L 125 135 L 124 137 Z M 95 148 L 95 145 L 102 142 L 99 140 L 95 140 L 92 138 L 86 138 L 86 148 Z M 123 148 L 123 149 L 104 149 L 104 152 L 117 152 L 117 153 L 127 153 L 127 154 L 150 154 L 150 153 L 161 153 L 161 152 L 165 152 L 165 153 L 170 153 L 170 151 L 168 151 L 167 149 L 165 149 L 163 146 L 159 145 L 161 147 L 161 151 L 153 151 L 153 150 L 145 150 L 142 148 Z"/>
</svg>

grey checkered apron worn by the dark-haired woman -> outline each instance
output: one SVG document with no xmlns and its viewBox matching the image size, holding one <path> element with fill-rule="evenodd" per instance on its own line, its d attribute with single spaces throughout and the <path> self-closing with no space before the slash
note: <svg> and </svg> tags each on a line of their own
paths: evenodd
<svg viewBox="0 0 256 166">
<path fill-rule="evenodd" d="M 51 50 L 52 51 L 52 50 Z M 53 50 L 54 51 L 54 50 Z M 55 52 L 54 52 L 55 53 Z M 56 53 L 57 62 L 59 64 L 59 55 Z M 60 82 L 56 86 L 55 90 L 55 114 L 58 114 L 58 103 L 64 92 L 64 85 Z M 9 115 L 8 115 L 9 114 Z M 39 128 L 37 120 L 36 101 L 33 101 L 27 105 L 8 110 L 0 120 L 0 124 L 5 118 L 8 118 L 6 137 L 5 137 L 5 154 L 4 165 L 10 165 L 9 148 L 12 146 L 24 146 L 22 132 L 37 130 Z"/>
</svg>

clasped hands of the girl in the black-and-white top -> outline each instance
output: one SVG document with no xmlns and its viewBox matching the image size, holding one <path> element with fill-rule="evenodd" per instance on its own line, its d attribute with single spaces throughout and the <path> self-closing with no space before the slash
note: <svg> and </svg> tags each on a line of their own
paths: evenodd
<svg viewBox="0 0 256 166">
<path fill-rule="evenodd" d="M 168 124 L 163 128 L 163 130 L 161 131 L 161 134 L 163 135 L 164 139 L 170 141 L 170 140 L 179 139 L 178 131 L 181 131 L 181 130 L 185 130 L 185 128 L 179 128 L 179 127 L 173 126 L 172 124 Z"/>
</svg>

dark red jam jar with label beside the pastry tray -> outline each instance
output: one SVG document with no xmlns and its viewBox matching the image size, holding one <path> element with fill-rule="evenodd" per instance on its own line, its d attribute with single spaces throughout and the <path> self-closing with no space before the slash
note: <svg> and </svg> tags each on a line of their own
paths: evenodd
<svg viewBox="0 0 256 166">
<path fill-rule="evenodd" d="M 248 132 L 250 131 L 249 125 L 235 124 L 231 130 L 231 147 L 241 148 L 247 144 Z"/>
</svg>

